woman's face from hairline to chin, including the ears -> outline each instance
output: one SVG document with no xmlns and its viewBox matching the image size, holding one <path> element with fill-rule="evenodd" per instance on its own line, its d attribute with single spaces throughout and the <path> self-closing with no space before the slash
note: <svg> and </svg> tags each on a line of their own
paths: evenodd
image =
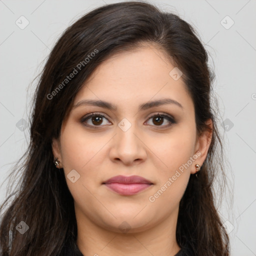
<svg viewBox="0 0 256 256">
<path fill-rule="evenodd" d="M 119 53 L 102 62 L 76 94 L 52 150 L 83 222 L 116 232 L 122 225 L 138 232 L 165 219 L 175 222 L 209 141 L 196 135 L 192 99 L 173 68 L 153 47 Z M 149 183 L 104 184 L 117 175 Z"/>
</svg>

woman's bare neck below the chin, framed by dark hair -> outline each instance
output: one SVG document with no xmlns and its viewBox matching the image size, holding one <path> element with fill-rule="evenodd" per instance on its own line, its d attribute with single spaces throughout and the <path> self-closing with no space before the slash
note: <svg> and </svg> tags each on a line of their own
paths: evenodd
<svg viewBox="0 0 256 256">
<path fill-rule="evenodd" d="M 176 242 L 177 212 L 161 220 L 157 225 L 136 232 L 109 230 L 96 225 L 82 212 L 76 212 L 77 246 L 84 256 L 174 256 L 179 251 Z"/>
</svg>

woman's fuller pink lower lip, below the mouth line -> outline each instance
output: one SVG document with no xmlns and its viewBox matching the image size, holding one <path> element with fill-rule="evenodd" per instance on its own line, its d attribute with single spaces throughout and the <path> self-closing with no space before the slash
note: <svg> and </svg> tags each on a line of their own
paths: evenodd
<svg viewBox="0 0 256 256">
<path fill-rule="evenodd" d="M 151 186 L 151 184 L 147 184 L 147 183 L 132 183 L 132 184 L 108 183 L 105 185 L 109 187 L 111 190 L 122 195 L 136 194 L 146 189 L 147 187 Z"/>
</svg>

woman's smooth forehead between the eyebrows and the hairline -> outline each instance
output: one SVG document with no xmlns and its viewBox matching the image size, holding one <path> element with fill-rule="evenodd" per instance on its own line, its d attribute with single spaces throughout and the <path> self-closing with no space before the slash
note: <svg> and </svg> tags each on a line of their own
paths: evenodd
<svg viewBox="0 0 256 256">
<path fill-rule="evenodd" d="M 174 66 L 153 47 L 114 54 L 97 66 L 74 99 L 113 102 L 131 107 L 149 100 L 170 97 L 191 108 L 192 99 L 182 80 L 173 79 Z"/>
</svg>

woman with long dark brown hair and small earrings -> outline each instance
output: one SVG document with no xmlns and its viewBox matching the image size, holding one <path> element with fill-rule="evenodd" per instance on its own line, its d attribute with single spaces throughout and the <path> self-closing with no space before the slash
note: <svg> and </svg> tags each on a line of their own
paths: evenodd
<svg viewBox="0 0 256 256">
<path fill-rule="evenodd" d="M 212 79 L 192 27 L 151 4 L 68 27 L 34 95 L 1 255 L 229 255 Z"/>
</svg>

